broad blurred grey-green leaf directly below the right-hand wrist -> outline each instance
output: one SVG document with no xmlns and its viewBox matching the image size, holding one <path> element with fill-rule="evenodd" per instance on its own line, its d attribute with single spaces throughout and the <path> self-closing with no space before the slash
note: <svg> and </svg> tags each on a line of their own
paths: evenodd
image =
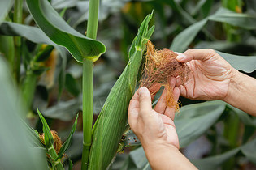
<svg viewBox="0 0 256 170">
<path fill-rule="evenodd" d="M 210 101 L 180 108 L 180 113 L 176 115 L 174 121 L 180 147 L 186 147 L 204 134 L 211 125 L 215 124 L 225 107 L 223 102 Z"/>
</svg>

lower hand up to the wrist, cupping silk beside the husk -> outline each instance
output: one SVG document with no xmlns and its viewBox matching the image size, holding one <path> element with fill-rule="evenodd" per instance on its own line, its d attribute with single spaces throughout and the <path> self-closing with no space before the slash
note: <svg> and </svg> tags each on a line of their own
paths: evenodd
<svg viewBox="0 0 256 170">
<path fill-rule="evenodd" d="M 170 85 L 177 101 L 180 90 L 175 84 L 176 79 L 172 78 Z M 179 149 L 179 139 L 173 122 L 176 111 L 175 108 L 167 106 L 166 95 L 167 92 L 164 90 L 155 109 L 151 106 L 150 91 L 146 87 L 138 89 L 130 101 L 128 122 L 145 152 L 149 151 L 150 147 L 161 145 Z"/>
</svg>

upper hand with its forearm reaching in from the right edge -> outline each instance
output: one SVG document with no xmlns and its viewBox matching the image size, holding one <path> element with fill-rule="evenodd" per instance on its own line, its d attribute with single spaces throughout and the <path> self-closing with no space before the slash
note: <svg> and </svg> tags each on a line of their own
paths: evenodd
<svg viewBox="0 0 256 170">
<path fill-rule="evenodd" d="M 256 79 L 234 69 L 212 49 L 189 49 L 179 62 L 190 68 L 188 80 L 177 87 L 180 96 L 193 100 L 223 100 L 256 117 Z"/>
</svg>

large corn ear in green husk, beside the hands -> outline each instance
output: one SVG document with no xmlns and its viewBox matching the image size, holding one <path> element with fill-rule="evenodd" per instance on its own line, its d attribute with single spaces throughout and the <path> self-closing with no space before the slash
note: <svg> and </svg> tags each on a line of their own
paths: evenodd
<svg viewBox="0 0 256 170">
<path fill-rule="evenodd" d="M 127 124 L 128 104 L 135 91 L 145 43 L 154 32 L 154 26 L 148 29 L 152 15 L 153 12 L 141 23 L 129 50 L 128 65 L 111 89 L 98 120 L 93 126 L 89 169 L 108 168 L 119 148 L 119 141 Z"/>
</svg>

